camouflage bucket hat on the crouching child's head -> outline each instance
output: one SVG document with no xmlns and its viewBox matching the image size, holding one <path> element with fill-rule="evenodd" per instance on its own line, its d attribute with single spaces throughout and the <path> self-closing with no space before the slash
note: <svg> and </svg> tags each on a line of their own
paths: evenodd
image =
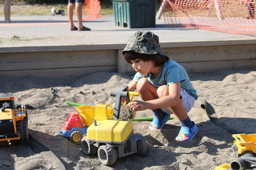
<svg viewBox="0 0 256 170">
<path fill-rule="evenodd" d="M 129 43 L 125 46 L 124 52 L 136 52 L 145 54 L 165 55 L 159 45 L 159 38 L 156 34 L 150 31 L 137 31 L 129 39 Z"/>
</svg>

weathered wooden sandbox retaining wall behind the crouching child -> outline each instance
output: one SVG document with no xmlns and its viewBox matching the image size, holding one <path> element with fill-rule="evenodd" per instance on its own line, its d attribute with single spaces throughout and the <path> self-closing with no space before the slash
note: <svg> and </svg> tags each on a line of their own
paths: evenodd
<svg viewBox="0 0 256 170">
<path fill-rule="evenodd" d="M 0 48 L 0 76 L 82 76 L 99 71 L 132 72 L 122 45 Z M 190 73 L 256 67 L 256 40 L 161 43 Z"/>
</svg>

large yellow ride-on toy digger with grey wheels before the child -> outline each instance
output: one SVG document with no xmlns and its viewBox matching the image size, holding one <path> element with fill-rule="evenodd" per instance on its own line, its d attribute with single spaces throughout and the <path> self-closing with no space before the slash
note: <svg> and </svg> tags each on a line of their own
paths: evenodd
<svg viewBox="0 0 256 170">
<path fill-rule="evenodd" d="M 114 110 L 109 104 L 97 104 L 90 108 L 95 109 L 95 120 L 81 139 L 84 155 L 97 154 L 102 164 L 111 166 L 118 157 L 134 153 L 143 155 L 147 151 L 144 137 L 133 133 L 132 118 L 135 117 L 135 111 L 132 112 L 132 118 L 119 118 L 121 99 L 124 97 L 128 103 L 133 96 L 138 95 L 138 92 L 128 92 L 128 87 L 124 87 L 110 94 L 116 97 Z"/>
</svg>

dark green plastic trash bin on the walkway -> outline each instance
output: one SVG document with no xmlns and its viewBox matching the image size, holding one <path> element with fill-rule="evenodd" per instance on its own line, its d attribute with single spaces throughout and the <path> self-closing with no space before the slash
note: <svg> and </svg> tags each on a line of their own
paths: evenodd
<svg viewBox="0 0 256 170">
<path fill-rule="evenodd" d="M 112 0 L 115 25 L 129 28 L 156 26 L 156 0 Z"/>
</svg>

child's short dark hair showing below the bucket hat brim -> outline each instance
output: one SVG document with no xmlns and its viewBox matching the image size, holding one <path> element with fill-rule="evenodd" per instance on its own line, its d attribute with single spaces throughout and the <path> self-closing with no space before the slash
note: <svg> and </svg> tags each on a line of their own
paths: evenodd
<svg viewBox="0 0 256 170">
<path fill-rule="evenodd" d="M 155 63 L 155 67 L 161 66 L 164 62 L 168 61 L 169 58 L 166 55 L 158 55 L 158 54 L 145 54 L 145 53 L 136 53 L 132 51 L 123 52 L 124 58 L 127 62 L 131 63 L 131 60 L 141 59 L 144 62 L 148 60 L 152 60 Z"/>
</svg>

